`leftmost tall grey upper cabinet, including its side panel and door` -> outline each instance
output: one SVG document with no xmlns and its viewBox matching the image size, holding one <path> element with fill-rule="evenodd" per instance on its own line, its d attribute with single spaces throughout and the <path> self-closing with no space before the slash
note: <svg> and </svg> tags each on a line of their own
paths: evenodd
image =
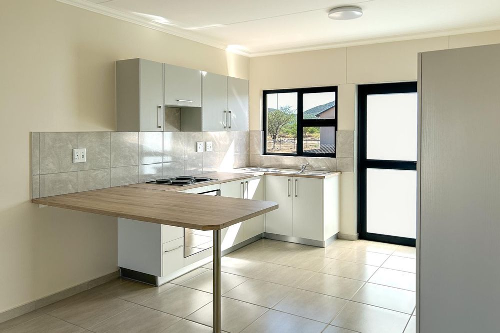
<svg viewBox="0 0 500 333">
<path fill-rule="evenodd" d="M 163 130 L 163 64 L 116 61 L 116 130 Z"/>
</svg>

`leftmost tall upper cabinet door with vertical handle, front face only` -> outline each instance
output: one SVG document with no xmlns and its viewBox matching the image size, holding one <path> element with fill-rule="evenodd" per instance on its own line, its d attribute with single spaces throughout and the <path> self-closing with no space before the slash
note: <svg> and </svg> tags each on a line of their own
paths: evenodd
<svg viewBox="0 0 500 333">
<path fill-rule="evenodd" d="M 140 130 L 163 130 L 163 64 L 140 59 Z"/>
</svg>

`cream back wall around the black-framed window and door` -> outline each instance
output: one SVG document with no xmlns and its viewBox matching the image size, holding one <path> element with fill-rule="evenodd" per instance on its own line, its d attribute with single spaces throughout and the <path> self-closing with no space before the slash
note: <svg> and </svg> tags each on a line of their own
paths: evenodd
<svg viewBox="0 0 500 333">
<path fill-rule="evenodd" d="M 338 129 L 355 130 L 356 84 L 415 81 L 418 52 L 491 43 L 500 43 L 500 31 L 250 58 L 250 129 L 259 130 L 262 126 L 262 90 L 338 85 Z M 357 133 L 354 138 L 356 136 Z M 354 152 L 356 150 L 354 140 Z M 343 172 L 340 178 L 342 234 L 357 233 L 356 196 L 355 174 Z"/>
</svg>

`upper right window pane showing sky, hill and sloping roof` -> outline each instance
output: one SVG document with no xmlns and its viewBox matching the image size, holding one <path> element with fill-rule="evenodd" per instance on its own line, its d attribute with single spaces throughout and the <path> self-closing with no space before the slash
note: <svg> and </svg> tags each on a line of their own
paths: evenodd
<svg viewBox="0 0 500 333">
<path fill-rule="evenodd" d="M 335 119 L 335 92 L 303 94 L 303 119 Z"/>
</svg>

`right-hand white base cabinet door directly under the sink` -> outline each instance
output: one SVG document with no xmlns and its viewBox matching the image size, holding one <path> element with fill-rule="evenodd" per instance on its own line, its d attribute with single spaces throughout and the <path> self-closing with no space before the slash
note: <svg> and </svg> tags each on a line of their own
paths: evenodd
<svg viewBox="0 0 500 333">
<path fill-rule="evenodd" d="M 293 236 L 323 240 L 322 188 L 319 178 L 293 177 Z"/>
</svg>

